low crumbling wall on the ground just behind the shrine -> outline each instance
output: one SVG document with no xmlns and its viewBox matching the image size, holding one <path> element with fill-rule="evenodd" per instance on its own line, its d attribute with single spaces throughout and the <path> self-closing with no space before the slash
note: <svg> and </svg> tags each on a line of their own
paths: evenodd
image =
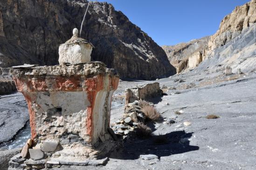
<svg viewBox="0 0 256 170">
<path fill-rule="evenodd" d="M 147 100 L 151 97 L 162 95 L 162 93 L 159 82 L 149 83 L 137 88 L 127 88 L 125 89 L 125 104 L 127 105 L 136 100 Z"/>
</svg>

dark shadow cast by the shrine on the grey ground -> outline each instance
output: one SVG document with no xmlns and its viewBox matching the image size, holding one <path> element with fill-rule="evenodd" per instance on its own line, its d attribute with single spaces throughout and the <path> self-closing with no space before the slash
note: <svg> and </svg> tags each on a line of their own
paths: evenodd
<svg viewBox="0 0 256 170">
<path fill-rule="evenodd" d="M 198 146 L 189 145 L 193 133 L 174 131 L 166 135 L 150 136 L 147 139 L 132 137 L 124 143 L 122 149 L 113 152 L 109 157 L 114 159 L 135 160 L 140 155 L 153 154 L 159 157 L 199 150 Z"/>
</svg>

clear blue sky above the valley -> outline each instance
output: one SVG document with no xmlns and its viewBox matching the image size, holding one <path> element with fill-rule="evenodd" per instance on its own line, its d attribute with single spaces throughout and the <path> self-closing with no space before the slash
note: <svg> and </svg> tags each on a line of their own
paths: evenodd
<svg viewBox="0 0 256 170">
<path fill-rule="evenodd" d="M 97 0 L 111 3 L 161 45 L 214 34 L 223 17 L 249 0 Z"/>
</svg>

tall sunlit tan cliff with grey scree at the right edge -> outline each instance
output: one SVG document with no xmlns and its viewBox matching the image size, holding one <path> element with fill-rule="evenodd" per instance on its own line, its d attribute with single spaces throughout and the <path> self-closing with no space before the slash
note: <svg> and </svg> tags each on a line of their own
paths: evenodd
<svg viewBox="0 0 256 170">
<path fill-rule="evenodd" d="M 250 72 L 256 69 L 256 0 L 235 7 L 210 37 L 198 71 L 218 72 L 231 67 Z"/>
</svg>

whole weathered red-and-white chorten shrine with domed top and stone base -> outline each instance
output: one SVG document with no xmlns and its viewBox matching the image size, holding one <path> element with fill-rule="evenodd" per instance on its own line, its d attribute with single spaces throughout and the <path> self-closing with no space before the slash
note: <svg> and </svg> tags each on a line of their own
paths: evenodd
<svg viewBox="0 0 256 170">
<path fill-rule="evenodd" d="M 60 45 L 60 65 L 12 68 L 16 87 L 28 103 L 31 139 L 10 160 L 9 170 L 107 161 L 104 156 L 118 143 L 110 111 L 119 77 L 104 63 L 90 62 L 92 48 L 75 28 L 72 38 Z"/>
</svg>

